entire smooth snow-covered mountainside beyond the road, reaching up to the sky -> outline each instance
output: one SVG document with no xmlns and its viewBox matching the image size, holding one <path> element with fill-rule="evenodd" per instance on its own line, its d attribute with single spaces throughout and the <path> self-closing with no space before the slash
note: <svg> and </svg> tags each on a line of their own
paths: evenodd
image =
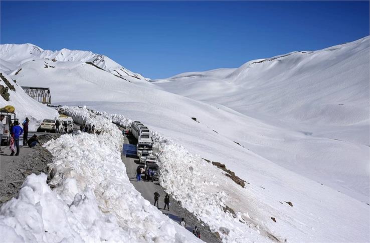
<svg viewBox="0 0 370 243">
<path fill-rule="evenodd" d="M 17 65 L 7 73 L 18 83 L 50 87 L 55 103 L 141 120 L 193 154 L 168 152 L 171 164 L 199 157 L 225 163 L 246 188 L 203 171 L 200 193 L 225 192 L 225 204 L 260 231 L 291 242 L 368 240 L 368 36 L 151 82 L 130 75 L 124 78 L 131 82 L 122 81 L 101 62 L 87 63 L 92 57 L 84 52 L 53 60 L 41 57 L 41 48 L 0 49 L 2 66 Z M 172 179 L 171 190 L 194 190 L 181 175 Z M 203 202 L 197 198 L 182 202 L 194 208 Z M 199 214 L 222 226 L 221 216 L 210 215 Z"/>
</svg>

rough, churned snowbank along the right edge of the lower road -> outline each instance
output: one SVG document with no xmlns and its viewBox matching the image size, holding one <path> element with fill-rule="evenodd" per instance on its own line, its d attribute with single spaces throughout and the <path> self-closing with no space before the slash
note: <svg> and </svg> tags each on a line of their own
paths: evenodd
<svg viewBox="0 0 370 243">
<path fill-rule="evenodd" d="M 127 127 L 131 120 L 119 114 L 93 111 L 113 123 Z M 263 229 L 250 222 L 248 215 L 240 212 L 235 214 L 224 210 L 226 205 L 224 191 L 210 191 L 217 188 L 217 174 L 223 174 L 200 155 L 191 154 L 182 145 L 165 138 L 153 131 L 153 148 L 159 151 L 160 185 L 181 205 L 192 212 L 198 219 L 210 226 L 213 232 L 218 232 L 223 242 L 271 242 Z M 212 175 L 204 176 L 205 174 Z M 248 221 L 246 221 L 246 220 Z M 262 230 L 262 231 L 261 231 Z"/>
</svg>

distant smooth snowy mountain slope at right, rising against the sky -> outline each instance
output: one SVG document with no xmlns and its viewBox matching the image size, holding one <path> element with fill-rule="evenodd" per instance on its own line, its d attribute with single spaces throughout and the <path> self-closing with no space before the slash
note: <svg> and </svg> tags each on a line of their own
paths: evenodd
<svg viewBox="0 0 370 243">
<path fill-rule="evenodd" d="M 369 118 L 369 36 L 317 51 L 252 60 L 235 69 L 152 80 L 166 91 L 214 102 L 264 120 L 359 125 Z M 311 132 L 310 130 L 308 130 Z M 312 131 L 315 132 L 315 131 Z M 368 145 L 368 136 L 334 138 Z"/>
</svg>

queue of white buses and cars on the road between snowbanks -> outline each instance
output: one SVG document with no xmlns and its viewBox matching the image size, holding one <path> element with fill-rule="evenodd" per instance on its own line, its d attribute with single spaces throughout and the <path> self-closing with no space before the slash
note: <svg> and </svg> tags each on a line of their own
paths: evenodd
<svg viewBox="0 0 370 243">
<path fill-rule="evenodd" d="M 158 158 L 153 153 L 153 139 L 147 126 L 138 120 L 131 122 L 129 131 L 137 139 L 137 156 L 140 161 L 140 168 L 143 168 L 145 179 L 158 180 Z"/>
</svg>

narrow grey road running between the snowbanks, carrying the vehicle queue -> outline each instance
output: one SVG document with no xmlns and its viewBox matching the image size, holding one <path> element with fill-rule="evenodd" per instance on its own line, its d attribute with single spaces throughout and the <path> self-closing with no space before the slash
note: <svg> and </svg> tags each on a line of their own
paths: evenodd
<svg viewBox="0 0 370 243">
<path fill-rule="evenodd" d="M 124 138 L 125 144 L 135 144 L 136 140 L 132 136 L 125 135 Z M 128 155 L 127 157 L 125 155 L 121 155 L 122 161 L 126 166 L 127 176 L 129 177 L 131 183 L 134 185 L 135 189 L 141 193 L 141 195 L 150 201 L 150 203 L 154 204 L 154 192 L 155 190 L 158 191 L 160 194 L 159 197 L 159 210 L 162 211 L 163 214 L 166 214 L 169 218 L 171 218 L 173 221 L 176 221 L 179 223 L 181 221 L 181 217 L 184 218 L 186 222 L 186 228 L 189 231 L 193 231 L 193 228 L 197 225 L 201 230 L 201 239 L 206 242 L 221 242 L 216 234 L 212 233 L 208 227 L 203 222 L 200 222 L 191 212 L 189 212 L 187 209 L 184 209 L 179 205 L 179 203 L 175 200 L 173 200 L 170 197 L 170 205 L 169 210 L 163 209 L 164 207 L 164 196 L 166 192 L 164 191 L 163 187 L 161 187 L 158 183 L 158 181 L 151 182 L 146 180 L 136 181 L 136 168 L 137 165 L 139 165 L 139 159 L 136 157 L 132 157 Z M 203 224 L 203 225 L 202 225 Z"/>
</svg>

